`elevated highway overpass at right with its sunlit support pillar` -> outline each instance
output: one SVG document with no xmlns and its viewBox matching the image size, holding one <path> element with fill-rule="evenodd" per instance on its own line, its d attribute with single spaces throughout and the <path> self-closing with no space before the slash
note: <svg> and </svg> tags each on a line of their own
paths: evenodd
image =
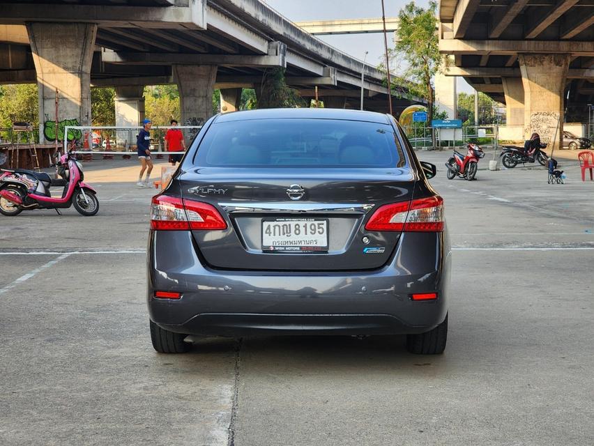
<svg viewBox="0 0 594 446">
<path fill-rule="evenodd" d="M 593 0 L 441 0 L 446 75 L 504 102 L 508 125 L 561 137 L 594 100 Z M 561 125 L 557 123 L 561 122 Z"/>
</svg>

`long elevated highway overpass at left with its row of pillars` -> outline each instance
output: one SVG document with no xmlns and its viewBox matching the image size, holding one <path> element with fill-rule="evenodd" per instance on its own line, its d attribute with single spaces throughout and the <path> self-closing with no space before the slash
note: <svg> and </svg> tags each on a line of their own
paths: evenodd
<svg viewBox="0 0 594 446">
<path fill-rule="evenodd" d="M 286 69 L 289 86 L 326 107 L 388 110 L 383 72 L 326 45 L 258 0 L 0 0 L 0 83 L 38 82 L 40 122 L 91 123 L 90 87 L 115 86 L 120 122 L 142 117 L 142 89 L 176 83 L 184 122 L 211 115 L 213 89 L 223 109 L 242 88 L 259 95 L 268 68 Z M 404 88 L 401 89 L 406 94 Z M 393 98 L 395 113 L 418 98 Z M 135 117 L 134 114 L 136 113 Z"/>
</svg>

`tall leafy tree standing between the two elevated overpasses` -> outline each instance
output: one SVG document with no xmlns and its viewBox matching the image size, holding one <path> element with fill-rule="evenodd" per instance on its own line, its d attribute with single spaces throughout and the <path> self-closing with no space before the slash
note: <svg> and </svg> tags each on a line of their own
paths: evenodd
<svg viewBox="0 0 594 446">
<path fill-rule="evenodd" d="M 411 2 L 404 6 L 398 15 L 400 23 L 397 43 L 390 50 L 390 58 L 404 62 L 406 87 L 411 95 L 427 99 L 429 122 L 433 119 L 435 92 L 432 78 L 441 65 L 436 26 L 437 3 L 429 1 L 427 9 Z M 394 86 L 393 86 L 394 88 Z"/>
</svg>

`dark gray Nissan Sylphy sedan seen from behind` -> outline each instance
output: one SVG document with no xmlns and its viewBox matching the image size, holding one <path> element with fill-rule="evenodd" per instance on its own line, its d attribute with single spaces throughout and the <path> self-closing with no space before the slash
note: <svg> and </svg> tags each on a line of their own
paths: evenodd
<svg viewBox="0 0 594 446">
<path fill-rule="evenodd" d="M 442 353 L 450 245 L 443 200 L 392 116 L 220 114 L 153 197 L 156 351 L 188 334 L 406 334 Z"/>
</svg>

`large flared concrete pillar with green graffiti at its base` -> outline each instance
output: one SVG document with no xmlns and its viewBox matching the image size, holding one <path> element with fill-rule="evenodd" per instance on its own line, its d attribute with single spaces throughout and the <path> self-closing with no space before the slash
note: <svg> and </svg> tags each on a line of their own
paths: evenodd
<svg viewBox="0 0 594 446">
<path fill-rule="evenodd" d="M 45 121 L 56 121 L 56 89 L 57 120 L 91 125 L 91 60 L 97 25 L 35 22 L 27 24 L 27 32 L 39 87 L 40 139 Z"/>
</svg>

